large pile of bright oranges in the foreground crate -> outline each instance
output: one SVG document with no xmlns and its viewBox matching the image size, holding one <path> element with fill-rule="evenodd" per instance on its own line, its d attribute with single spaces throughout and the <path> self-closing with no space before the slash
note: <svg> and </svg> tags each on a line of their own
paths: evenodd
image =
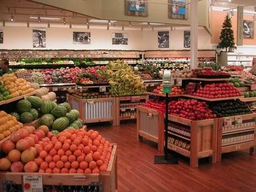
<svg viewBox="0 0 256 192">
<path fill-rule="evenodd" d="M 112 146 L 97 131 L 64 130 L 35 145 L 39 173 L 99 173 L 106 171 Z"/>
</svg>

